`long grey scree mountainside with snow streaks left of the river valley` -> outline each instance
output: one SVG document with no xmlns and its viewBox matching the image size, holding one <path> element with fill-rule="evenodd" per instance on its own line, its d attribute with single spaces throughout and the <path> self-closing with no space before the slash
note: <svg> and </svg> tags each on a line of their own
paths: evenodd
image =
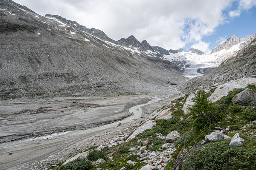
<svg viewBox="0 0 256 170">
<path fill-rule="evenodd" d="M 0 39 L 1 99 L 151 93 L 185 80 L 174 63 L 148 53 L 145 41 L 115 42 L 103 31 L 40 16 L 12 0 L 0 1 Z M 144 52 L 125 47 L 131 42 Z"/>
</svg>

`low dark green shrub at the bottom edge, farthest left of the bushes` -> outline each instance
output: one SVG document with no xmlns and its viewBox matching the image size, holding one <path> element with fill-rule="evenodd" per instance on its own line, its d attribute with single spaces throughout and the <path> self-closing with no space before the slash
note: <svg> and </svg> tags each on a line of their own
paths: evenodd
<svg viewBox="0 0 256 170">
<path fill-rule="evenodd" d="M 76 159 L 65 165 L 57 167 L 57 170 L 90 170 L 93 167 L 92 162 L 87 158 Z"/>
</svg>

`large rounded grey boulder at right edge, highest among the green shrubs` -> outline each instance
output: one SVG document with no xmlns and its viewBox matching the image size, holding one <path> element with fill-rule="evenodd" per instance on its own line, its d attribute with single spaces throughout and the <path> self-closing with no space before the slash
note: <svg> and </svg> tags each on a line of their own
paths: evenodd
<svg viewBox="0 0 256 170">
<path fill-rule="evenodd" d="M 247 88 L 234 96 L 232 102 L 235 105 L 256 105 L 256 93 L 252 89 Z"/>
</svg>

